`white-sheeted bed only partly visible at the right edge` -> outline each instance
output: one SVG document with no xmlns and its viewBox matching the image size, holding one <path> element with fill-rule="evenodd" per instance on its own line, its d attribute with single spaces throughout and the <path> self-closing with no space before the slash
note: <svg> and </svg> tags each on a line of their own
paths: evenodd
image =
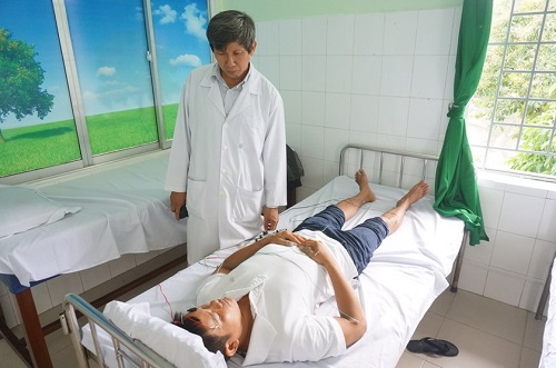
<svg viewBox="0 0 556 368">
<path fill-rule="evenodd" d="M 545 331 L 543 335 L 543 351 L 540 354 L 539 368 L 552 368 L 556 367 L 556 282 L 553 282 L 556 277 L 556 262 L 554 259 L 550 263 L 550 269 L 548 270 L 548 277 L 546 279 L 545 290 L 543 291 L 543 297 L 540 298 L 539 309 L 537 310 L 537 319 L 543 317 L 543 309 L 546 301 L 548 300 L 548 312 L 545 322 Z"/>
</svg>

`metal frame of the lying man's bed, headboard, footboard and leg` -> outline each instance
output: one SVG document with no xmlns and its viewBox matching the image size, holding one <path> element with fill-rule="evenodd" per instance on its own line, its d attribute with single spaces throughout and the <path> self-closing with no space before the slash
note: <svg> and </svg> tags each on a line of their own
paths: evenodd
<svg viewBox="0 0 556 368">
<path fill-rule="evenodd" d="M 353 157 L 347 157 L 348 152 L 350 151 L 356 151 L 357 158 Z M 369 163 L 368 158 L 369 155 L 374 155 L 374 161 Z M 389 160 L 387 162 L 387 159 L 389 157 L 396 158 L 395 160 Z M 353 162 L 350 162 L 350 160 Z M 390 171 L 390 172 L 396 172 L 396 175 L 393 177 L 396 181 L 396 185 L 398 188 L 403 187 L 404 178 L 405 176 L 411 176 L 410 172 L 406 173 L 406 163 L 407 166 L 410 166 L 409 169 L 413 169 L 415 171 L 415 165 L 413 165 L 414 160 L 420 160 L 421 168 L 420 172 L 418 175 L 413 175 L 417 176 L 421 179 L 427 178 L 427 172 L 430 167 L 430 162 L 436 163 L 438 161 L 437 157 L 434 156 L 428 156 L 428 155 L 419 155 L 419 153 L 408 153 L 408 152 L 403 152 L 403 151 L 396 151 L 396 150 L 383 150 L 383 149 L 375 149 L 371 147 L 365 147 L 365 146 L 354 146 L 354 145 L 348 145 L 346 146 L 341 152 L 340 152 L 340 167 L 339 167 L 339 175 L 344 175 L 346 166 L 353 166 L 353 167 L 358 167 L 358 168 L 365 168 L 370 165 L 370 167 L 374 167 L 375 165 L 378 167 L 378 170 L 374 170 L 371 168 L 373 173 L 378 175 L 378 183 L 381 185 L 385 180 L 387 180 L 384 177 L 384 172 L 390 170 L 391 168 L 395 168 L 396 171 Z M 355 162 L 357 161 L 357 163 Z M 394 162 L 393 162 L 394 161 Z M 411 161 L 411 162 L 406 162 L 406 161 Z M 410 171 L 410 170 L 407 170 Z M 390 178 L 390 181 L 391 179 Z M 370 176 L 369 176 L 370 179 Z M 390 185 L 390 183 L 387 183 Z M 459 270 L 461 267 L 461 261 L 463 261 L 463 255 L 464 255 L 464 248 L 465 243 L 467 242 L 467 231 L 464 232 L 464 237 L 461 240 L 461 246 L 458 252 L 458 256 L 455 261 L 454 270 L 453 270 L 453 277 L 451 277 L 451 284 L 450 284 L 450 291 L 456 292 L 457 291 L 457 281 L 459 278 Z M 78 357 L 78 362 L 80 368 L 88 368 L 89 367 L 89 358 L 97 360 L 97 362 L 101 366 L 105 367 L 105 357 L 101 351 L 101 348 L 99 346 L 99 341 L 97 339 L 97 328 L 103 329 L 108 335 L 110 335 L 112 339 L 112 344 L 115 347 L 115 351 L 117 354 L 117 361 L 118 361 L 118 367 L 172 367 L 166 359 L 157 355 L 153 350 L 148 348 L 147 346 L 142 345 L 138 340 L 131 339 L 129 336 L 123 334 L 116 325 L 113 325 L 108 318 L 106 318 L 101 312 L 99 312 L 96 308 L 91 307 L 87 301 L 85 301 L 81 297 L 75 295 L 75 294 L 68 294 L 62 302 L 63 311 L 60 314 L 60 321 L 62 324 L 62 328 L 66 334 L 71 335 L 71 340 L 72 345 L 76 351 L 76 355 Z M 81 345 L 81 328 L 78 321 L 78 317 L 76 314 L 76 310 L 82 314 L 86 318 L 87 324 L 89 324 L 91 328 L 91 335 L 93 338 L 95 342 L 95 352 L 89 352 L 82 345 Z M 123 349 L 123 347 L 126 349 Z M 93 356 L 92 356 L 93 355 Z M 132 357 L 136 358 L 136 361 L 140 361 L 140 365 L 137 365 L 136 361 L 133 361 Z M 126 366 L 125 366 L 126 364 Z"/>
</svg>

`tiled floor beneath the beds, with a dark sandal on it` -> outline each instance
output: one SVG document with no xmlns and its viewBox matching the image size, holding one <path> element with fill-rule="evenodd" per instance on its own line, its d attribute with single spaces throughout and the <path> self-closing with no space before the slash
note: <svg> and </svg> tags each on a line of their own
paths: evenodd
<svg viewBox="0 0 556 368">
<path fill-rule="evenodd" d="M 536 368 L 546 318 L 538 321 L 524 309 L 459 290 L 445 291 L 430 307 L 414 339 L 426 336 L 454 342 L 457 357 L 428 357 L 404 352 L 396 368 Z M 75 368 L 69 338 L 61 331 L 47 337 L 54 368 Z M 24 365 L 0 341 L 0 367 Z"/>
</svg>

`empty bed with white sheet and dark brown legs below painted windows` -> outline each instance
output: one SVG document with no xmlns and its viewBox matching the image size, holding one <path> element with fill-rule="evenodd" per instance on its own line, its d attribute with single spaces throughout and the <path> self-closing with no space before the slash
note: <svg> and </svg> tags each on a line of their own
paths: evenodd
<svg viewBox="0 0 556 368">
<path fill-rule="evenodd" d="M 51 367 L 48 326 L 39 320 L 32 286 L 122 255 L 157 255 L 186 242 L 185 221 L 176 221 L 163 190 L 167 161 L 168 151 L 157 151 L 40 182 L 0 186 L 0 280 L 16 297 L 26 342 L 7 327 L 3 314 L 0 329 L 29 366 Z M 185 263 L 185 246 L 178 258 L 157 265 L 149 277 Z"/>
</svg>

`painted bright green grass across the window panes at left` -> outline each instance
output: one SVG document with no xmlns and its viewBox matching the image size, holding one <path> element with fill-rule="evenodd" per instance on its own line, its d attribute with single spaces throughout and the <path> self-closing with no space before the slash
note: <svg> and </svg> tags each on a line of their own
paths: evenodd
<svg viewBox="0 0 556 368">
<path fill-rule="evenodd" d="M 177 111 L 177 105 L 162 107 L 169 138 Z M 95 156 L 158 141 L 153 107 L 100 113 L 86 120 Z M 81 159 L 73 120 L 3 129 L 2 135 L 6 141 L 0 142 L 0 177 Z"/>
</svg>

